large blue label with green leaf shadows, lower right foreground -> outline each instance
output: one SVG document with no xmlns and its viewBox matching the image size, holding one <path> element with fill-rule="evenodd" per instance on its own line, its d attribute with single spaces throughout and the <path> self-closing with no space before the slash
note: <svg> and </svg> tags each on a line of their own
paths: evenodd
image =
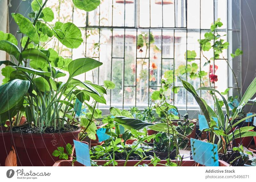
<svg viewBox="0 0 256 182">
<path fill-rule="evenodd" d="M 190 138 L 193 160 L 204 166 L 219 166 L 217 144 Z"/>
</svg>

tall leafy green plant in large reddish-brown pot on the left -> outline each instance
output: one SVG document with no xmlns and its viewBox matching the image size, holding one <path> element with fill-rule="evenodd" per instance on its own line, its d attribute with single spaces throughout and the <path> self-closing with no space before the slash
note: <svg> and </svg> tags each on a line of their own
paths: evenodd
<svg viewBox="0 0 256 182">
<path fill-rule="evenodd" d="M 68 48 L 77 48 L 83 42 L 81 31 L 73 23 L 57 21 L 55 26 L 50 25 L 54 19 L 50 8 L 44 3 L 32 1 L 33 12 L 29 13 L 32 22 L 19 13 L 12 13 L 14 21 L 18 24 L 22 34 L 21 49 L 17 47 L 16 38 L 8 34 L 1 36 L 1 50 L 10 54 L 11 61 L 1 61 L 9 68 L 5 75 L 7 84 L 20 79 L 26 81 L 28 89 L 22 99 L 22 108 L 27 122 L 18 126 L 10 119 L 12 144 L 17 154 L 18 165 L 22 166 L 51 166 L 58 158 L 52 157 L 52 152 L 57 146 L 65 146 L 78 139 L 80 128 L 68 122 L 66 112 L 76 107 L 75 99 L 84 102 L 92 97 L 99 102 L 106 102 L 102 94 L 106 90 L 93 83 L 81 82 L 73 77 L 83 74 L 102 65 L 99 61 L 90 58 L 64 60 L 62 67 L 68 71 L 66 83 L 58 82 L 57 78 L 66 74 L 56 69 L 58 62 L 63 60 L 53 49 L 45 50 L 45 45 L 53 37 L 57 38 Z M 82 4 L 73 1 L 77 8 L 92 11 L 100 1 Z M 23 48 L 23 49 L 22 49 Z M 17 60 L 17 62 L 15 61 Z M 82 87 L 82 90 L 78 88 Z M 7 90 L 10 88 L 7 88 Z M 8 90 L 9 91 L 9 90 Z M 16 89 L 23 93 L 23 87 Z M 15 94 L 12 94 L 14 97 Z M 3 96 L 1 99 L 4 99 Z M 10 99 L 8 102 L 11 102 Z M 11 108 L 10 108 L 11 109 Z M 16 113 L 17 114 L 17 113 Z M 75 116 L 76 111 L 73 111 Z M 72 115 L 72 116 L 73 116 Z M 18 117 L 17 117 L 18 118 Z M 69 118 L 70 119 L 70 118 Z M 15 127 L 13 127 L 15 126 Z"/>
</svg>

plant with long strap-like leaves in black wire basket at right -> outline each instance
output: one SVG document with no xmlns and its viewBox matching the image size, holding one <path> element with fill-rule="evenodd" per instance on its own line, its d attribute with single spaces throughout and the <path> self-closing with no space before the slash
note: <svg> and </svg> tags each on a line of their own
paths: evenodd
<svg viewBox="0 0 256 182">
<path fill-rule="evenodd" d="M 244 93 L 244 96 L 241 98 L 241 101 L 239 103 L 239 106 L 236 109 L 236 112 L 233 115 L 232 120 L 230 121 L 228 119 L 228 115 L 229 115 L 229 108 L 228 108 L 228 103 L 227 100 L 225 99 L 225 97 L 223 95 L 220 94 L 219 91 L 213 89 L 213 88 L 209 88 L 209 87 L 200 87 L 198 90 L 206 90 L 206 91 L 212 91 L 212 97 L 215 98 L 215 104 L 216 104 L 216 108 L 217 108 L 217 113 L 215 113 L 212 108 L 210 106 L 207 105 L 206 101 L 204 99 L 202 99 L 201 97 L 198 96 L 196 90 L 194 89 L 194 87 L 184 81 L 181 80 L 184 88 L 189 91 L 193 97 L 196 99 L 199 107 L 201 108 L 206 121 L 208 123 L 209 128 L 204 129 L 203 131 L 208 131 L 209 132 L 209 142 L 214 143 L 217 142 L 218 143 L 218 151 L 219 151 L 219 156 L 228 156 L 225 157 L 228 161 L 227 162 L 232 162 L 232 165 L 237 164 L 237 165 L 243 165 L 243 162 L 239 162 L 239 160 L 241 158 L 244 157 L 244 153 L 243 151 L 237 151 L 237 147 L 232 147 L 230 141 L 236 139 L 236 138 L 241 138 L 241 137 L 249 137 L 249 136 L 256 136 L 256 133 L 252 130 L 254 127 L 252 126 L 246 126 L 246 127 L 242 127 L 239 129 L 236 129 L 235 131 L 233 130 L 233 127 L 236 128 L 236 126 L 243 122 L 244 120 L 255 116 L 254 115 L 250 115 L 247 117 L 244 117 L 243 119 L 235 122 L 235 118 L 236 116 L 241 112 L 242 108 L 247 104 L 247 102 L 249 101 L 249 99 L 251 99 L 251 97 L 255 94 L 255 83 L 256 83 L 256 79 L 254 79 L 252 81 L 252 83 L 249 85 L 249 87 L 247 88 L 247 90 Z M 217 99 L 217 94 L 220 95 L 220 97 L 223 99 L 223 103 L 225 105 L 226 108 L 226 115 L 224 115 L 221 107 L 220 107 L 220 103 L 219 100 Z M 212 119 L 212 117 L 218 118 L 218 126 L 217 123 Z M 217 141 L 215 141 L 217 139 Z M 242 144 L 241 144 L 242 146 Z M 230 149 L 229 149 L 230 148 Z M 245 152 L 248 153 L 248 152 Z M 236 154 L 238 154 L 238 156 L 235 156 Z M 229 161 L 230 157 L 233 157 L 234 160 Z M 235 161 L 236 160 L 236 161 Z"/>
</svg>

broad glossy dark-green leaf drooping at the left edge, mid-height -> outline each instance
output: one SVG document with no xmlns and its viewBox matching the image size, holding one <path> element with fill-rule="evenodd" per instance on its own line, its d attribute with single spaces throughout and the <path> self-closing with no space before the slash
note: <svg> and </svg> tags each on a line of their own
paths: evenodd
<svg viewBox="0 0 256 182">
<path fill-rule="evenodd" d="M 15 79 L 0 86 L 0 114 L 14 107 L 28 91 L 30 82 Z"/>
</svg>

